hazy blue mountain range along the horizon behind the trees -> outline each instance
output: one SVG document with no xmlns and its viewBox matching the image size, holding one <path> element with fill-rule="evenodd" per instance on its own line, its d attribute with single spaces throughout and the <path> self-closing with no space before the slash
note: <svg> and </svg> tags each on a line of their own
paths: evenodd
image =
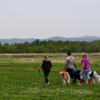
<svg viewBox="0 0 100 100">
<path fill-rule="evenodd" d="M 24 42 L 33 42 L 35 41 L 35 38 L 29 38 L 29 39 L 19 39 L 19 38 L 13 38 L 13 39 L 0 39 L 0 42 L 2 44 L 4 43 L 8 43 L 8 44 L 14 44 L 14 43 L 24 43 Z M 53 41 L 86 41 L 86 42 L 91 42 L 91 41 L 95 41 L 95 40 L 100 40 L 100 37 L 97 36 L 83 36 L 83 37 L 74 37 L 74 38 L 64 38 L 64 37 L 51 37 L 51 38 L 47 38 L 47 39 L 39 39 L 40 41 L 46 40 L 53 40 Z"/>
</svg>

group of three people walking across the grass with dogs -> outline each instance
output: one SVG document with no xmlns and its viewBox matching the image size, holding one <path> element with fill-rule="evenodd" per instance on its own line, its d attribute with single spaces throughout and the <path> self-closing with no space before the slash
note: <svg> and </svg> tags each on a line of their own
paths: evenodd
<svg viewBox="0 0 100 100">
<path fill-rule="evenodd" d="M 45 76 L 45 84 L 49 85 L 50 82 L 48 80 L 48 74 L 50 73 L 50 69 L 52 67 L 52 63 L 51 61 L 48 59 L 47 56 L 44 57 L 45 60 L 43 60 L 42 66 L 39 68 L 39 70 L 42 68 L 43 72 L 44 72 L 44 76 Z M 82 60 L 81 60 L 81 64 L 82 64 L 82 73 L 80 75 L 80 83 L 78 83 L 78 85 L 82 84 L 83 81 L 83 77 L 84 75 L 86 75 L 89 84 L 91 84 L 91 80 L 90 80 L 90 76 L 89 76 L 89 72 L 90 72 L 90 66 L 89 66 L 89 59 L 87 58 L 87 54 L 86 53 L 82 53 Z M 68 72 L 70 74 L 70 77 L 74 78 L 72 72 L 74 67 L 76 68 L 76 62 L 74 57 L 71 55 L 71 53 L 67 53 L 67 58 L 65 61 L 65 65 L 64 65 L 64 70 L 66 70 L 66 72 Z"/>
</svg>

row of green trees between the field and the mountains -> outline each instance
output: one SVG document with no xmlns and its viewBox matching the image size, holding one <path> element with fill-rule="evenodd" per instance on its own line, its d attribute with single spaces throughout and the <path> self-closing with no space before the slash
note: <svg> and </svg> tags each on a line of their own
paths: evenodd
<svg viewBox="0 0 100 100">
<path fill-rule="evenodd" d="M 66 52 L 100 52 L 100 40 L 93 42 L 79 41 L 33 41 L 32 43 L 15 43 L 2 45 L 0 53 L 66 53 Z"/>
</svg>

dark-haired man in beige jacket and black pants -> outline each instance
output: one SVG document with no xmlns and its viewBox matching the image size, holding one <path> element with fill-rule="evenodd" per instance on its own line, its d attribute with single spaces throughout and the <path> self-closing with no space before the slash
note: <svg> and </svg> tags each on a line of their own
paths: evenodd
<svg viewBox="0 0 100 100">
<path fill-rule="evenodd" d="M 66 68 L 67 66 L 67 68 Z M 76 63 L 75 63 L 75 59 L 73 56 L 71 56 L 71 53 L 67 53 L 67 58 L 66 58 L 66 61 L 65 61 L 65 65 L 64 65 L 64 70 L 66 68 L 66 71 L 70 74 L 70 77 L 73 79 L 73 69 L 74 69 L 74 66 L 76 66 Z"/>
</svg>

